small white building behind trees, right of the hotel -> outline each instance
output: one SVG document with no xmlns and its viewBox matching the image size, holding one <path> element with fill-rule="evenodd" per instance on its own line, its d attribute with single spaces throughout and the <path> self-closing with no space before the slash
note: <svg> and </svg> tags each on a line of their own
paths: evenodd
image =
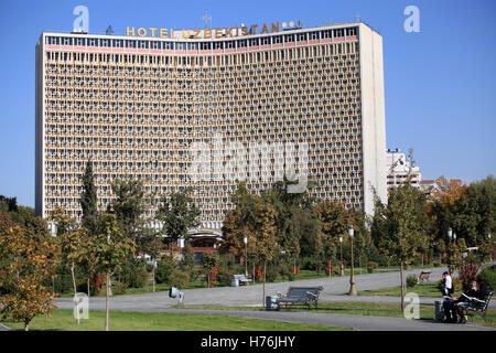
<svg viewBox="0 0 496 353">
<path fill-rule="evenodd" d="M 411 175 L 410 183 L 421 189 L 422 174 L 419 167 L 412 167 L 407 154 L 400 151 L 389 151 L 386 157 L 388 188 L 396 188 L 407 182 Z"/>
</svg>

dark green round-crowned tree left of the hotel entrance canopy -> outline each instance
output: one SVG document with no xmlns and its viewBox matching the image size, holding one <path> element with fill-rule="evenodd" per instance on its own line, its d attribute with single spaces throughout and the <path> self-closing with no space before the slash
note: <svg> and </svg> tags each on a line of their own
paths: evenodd
<svg viewBox="0 0 496 353">
<path fill-rule="evenodd" d="M 200 225 L 201 211 L 190 195 L 191 192 L 191 189 L 186 189 L 184 192 L 173 192 L 169 197 L 162 199 L 159 218 L 163 222 L 163 232 L 171 239 L 171 252 L 174 242 L 179 238 L 188 239 L 188 229 Z"/>
</svg>

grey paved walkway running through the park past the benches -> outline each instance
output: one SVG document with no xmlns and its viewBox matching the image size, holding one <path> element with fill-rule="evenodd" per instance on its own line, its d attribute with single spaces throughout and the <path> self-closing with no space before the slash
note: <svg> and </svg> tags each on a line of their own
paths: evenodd
<svg viewBox="0 0 496 353">
<path fill-rule="evenodd" d="M 432 268 L 431 280 L 441 278 L 444 268 Z M 420 270 L 409 270 L 408 275 L 418 276 Z M 355 277 L 358 291 L 380 289 L 399 285 L 399 272 L 381 272 L 357 275 Z M 278 291 L 285 292 L 291 285 L 298 286 L 323 286 L 321 302 L 377 302 L 398 303 L 399 297 L 385 296 L 346 296 L 349 289 L 349 277 L 331 277 L 310 280 L 299 280 L 293 282 L 280 282 L 266 285 L 266 295 L 277 295 Z M 433 306 L 441 298 L 420 298 L 420 303 Z M 474 327 L 471 324 L 443 324 L 428 320 L 407 320 L 403 318 L 385 318 L 353 314 L 327 314 L 312 312 L 273 312 L 273 311 L 236 311 L 236 310 L 193 310 L 193 309 L 168 309 L 177 303 L 177 299 L 169 298 L 168 292 L 117 296 L 111 297 L 110 310 L 115 311 L 141 311 L 141 312 L 186 312 L 197 314 L 226 314 L 254 319 L 277 320 L 287 322 L 320 323 L 332 327 L 354 328 L 357 330 L 386 330 L 386 331 L 472 331 L 472 330 L 494 330 L 489 328 Z M 54 303 L 61 309 L 73 309 L 72 298 L 58 298 Z M 260 306 L 262 303 L 261 285 L 242 287 L 218 287 L 184 290 L 184 303 L 195 304 L 220 304 L 220 306 Z M 105 297 L 91 297 L 89 300 L 90 310 L 105 310 Z M 496 303 L 490 302 L 489 309 L 495 309 Z"/>
</svg>

